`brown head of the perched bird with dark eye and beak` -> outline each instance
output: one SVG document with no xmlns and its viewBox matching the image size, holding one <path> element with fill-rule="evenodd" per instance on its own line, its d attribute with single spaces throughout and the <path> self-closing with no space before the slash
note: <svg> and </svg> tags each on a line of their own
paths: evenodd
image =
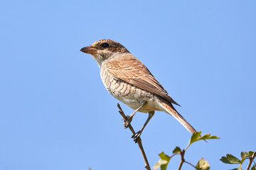
<svg viewBox="0 0 256 170">
<path fill-rule="evenodd" d="M 129 52 L 119 42 L 109 39 L 97 40 L 90 46 L 82 47 L 80 51 L 92 55 L 99 67 L 101 67 L 102 62 L 114 57 L 118 53 Z"/>
</svg>

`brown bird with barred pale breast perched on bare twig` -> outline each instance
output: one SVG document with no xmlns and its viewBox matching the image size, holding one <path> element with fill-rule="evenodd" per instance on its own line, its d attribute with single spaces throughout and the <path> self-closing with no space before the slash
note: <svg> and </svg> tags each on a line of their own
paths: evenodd
<svg viewBox="0 0 256 170">
<path fill-rule="evenodd" d="M 134 109 L 131 115 L 126 115 L 127 121 L 124 120 L 124 128 L 128 127 L 138 111 L 149 113 L 142 128 L 132 135 L 135 142 L 142 135 L 142 131 L 155 111 L 164 111 L 172 115 L 189 132 L 196 132 L 195 128 L 173 106 L 173 104 L 180 105 L 169 96 L 149 69 L 122 44 L 114 40 L 102 39 L 93 42 L 90 46 L 82 47 L 80 51 L 92 55 L 95 59 L 107 91 L 114 98 Z"/>
</svg>

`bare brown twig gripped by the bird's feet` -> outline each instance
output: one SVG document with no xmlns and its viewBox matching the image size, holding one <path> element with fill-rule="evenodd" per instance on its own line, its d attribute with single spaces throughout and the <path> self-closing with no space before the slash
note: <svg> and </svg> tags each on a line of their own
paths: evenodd
<svg viewBox="0 0 256 170">
<path fill-rule="evenodd" d="M 119 113 L 122 115 L 122 117 L 124 118 L 124 120 L 127 120 L 127 117 L 125 116 L 124 111 L 122 111 L 122 108 L 121 108 L 121 106 L 119 105 L 119 103 L 117 103 L 117 107 L 119 108 Z M 132 128 L 132 125 L 131 125 L 131 124 L 128 125 L 128 128 L 129 128 L 129 130 L 131 130 L 132 135 L 134 135 L 134 134 L 135 134 L 135 131 L 134 131 L 134 129 Z M 140 137 L 138 137 L 137 144 L 139 145 L 139 149 L 140 149 L 140 151 L 142 152 L 142 157 L 143 157 L 144 162 L 145 162 L 145 168 L 146 168 L 146 170 L 150 170 L 149 162 L 148 162 L 148 160 L 147 160 L 147 158 L 146 158 L 146 154 L 145 154 L 144 149 L 143 149 L 143 147 L 142 147 L 142 139 L 141 139 Z"/>
</svg>

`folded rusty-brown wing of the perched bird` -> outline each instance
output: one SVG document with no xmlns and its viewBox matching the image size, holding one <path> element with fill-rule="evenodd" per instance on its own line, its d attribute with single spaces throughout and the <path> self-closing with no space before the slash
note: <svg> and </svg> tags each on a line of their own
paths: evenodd
<svg viewBox="0 0 256 170">
<path fill-rule="evenodd" d="M 167 94 L 159 81 L 157 81 L 154 76 L 149 72 L 149 69 L 142 64 L 133 55 L 125 55 L 119 60 L 112 60 L 107 62 L 107 72 L 112 74 L 113 77 L 117 79 L 122 79 L 129 84 L 137 86 L 146 91 L 150 91 L 153 94 L 165 98 L 167 101 L 180 106 L 176 101 L 174 101 L 169 94 Z"/>
</svg>

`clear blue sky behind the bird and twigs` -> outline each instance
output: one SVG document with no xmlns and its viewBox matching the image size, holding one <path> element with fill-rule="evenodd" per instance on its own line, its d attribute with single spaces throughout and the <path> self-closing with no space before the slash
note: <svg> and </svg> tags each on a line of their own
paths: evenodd
<svg viewBox="0 0 256 170">
<path fill-rule="evenodd" d="M 144 169 L 120 102 L 79 51 L 103 38 L 138 57 L 196 130 L 221 138 L 192 145 L 188 162 L 204 157 L 211 169 L 235 168 L 220 157 L 256 150 L 255 7 L 252 0 L 2 1 L 0 169 Z M 135 130 L 146 118 L 135 115 Z M 190 136 L 156 112 L 142 133 L 151 167 Z"/>
</svg>

